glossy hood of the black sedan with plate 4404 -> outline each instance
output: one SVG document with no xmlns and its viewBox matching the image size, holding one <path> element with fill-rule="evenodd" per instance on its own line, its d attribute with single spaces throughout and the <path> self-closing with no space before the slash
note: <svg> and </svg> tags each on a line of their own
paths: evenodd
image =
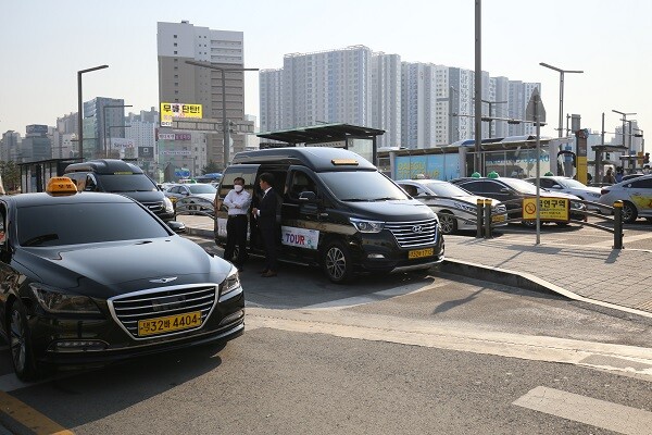
<svg viewBox="0 0 652 435">
<path fill-rule="evenodd" d="M 163 285 L 221 283 L 230 263 L 179 236 L 52 248 L 23 248 L 17 262 L 54 287 L 108 298 Z M 150 279 L 174 277 L 170 283 Z"/>
</svg>

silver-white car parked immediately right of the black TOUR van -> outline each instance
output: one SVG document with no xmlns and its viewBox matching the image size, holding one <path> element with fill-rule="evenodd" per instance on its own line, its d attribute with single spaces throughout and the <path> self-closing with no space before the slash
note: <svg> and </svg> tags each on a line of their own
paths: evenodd
<svg viewBox="0 0 652 435">
<path fill-rule="evenodd" d="M 437 213 L 443 234 L 476 229 L 477 200 L 491 199 L 473 195 L 454 184 L 439 179 L 401 179 L 397 184 Z M 506 225 L 503 222 L 507 219 L 507 209 L 497 199 L 491 199 L 491 214 L 494 223 L 500 226 Z"/>
</svg>

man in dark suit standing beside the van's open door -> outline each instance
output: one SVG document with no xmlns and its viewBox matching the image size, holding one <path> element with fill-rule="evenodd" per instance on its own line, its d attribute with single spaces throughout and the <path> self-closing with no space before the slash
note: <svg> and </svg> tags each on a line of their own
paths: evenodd
<svg viewBox="0 0 652 435">
<path fill-rule="evenodd" d="M 261 272 L 263 277 L 276 276 L 278 273 L 278 248 L 277 248 L 277 224 L 276 208 L 278 198 L 272 188 L 274 175 L 265 172 L 259 178 L 259 185 L 263 191 L 263 198 L 259 201 L 258 208 L 251 210 L 253 217 L 258 221 L 258 227 L 263 239 L 265 249 L 265 269 Z"/>
</svg>

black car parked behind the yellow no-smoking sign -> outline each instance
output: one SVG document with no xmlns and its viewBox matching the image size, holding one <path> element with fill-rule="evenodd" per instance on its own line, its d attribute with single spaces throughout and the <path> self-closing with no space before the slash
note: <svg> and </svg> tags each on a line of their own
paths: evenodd
<svg viewBox="0 0 652 435">
<path fill-rule="evenodd" d="M 519 178 L 510 177 L 498 177 L 498 178 L 456 178 L 451 183 L 475 194 L 481 195 L 489 198 L 498 199 L 501 202 L 506 202 L 514 199 L 531 198 L 537 195 L 537 188 L 531 183 L 528 183 Z M 586 215 L 587 207 L 579 201 L 579 198 L 575 195 L 564 194 L 563 191 L 551 192 L 548 190 L 540 189 L 539 196 L 542 198 L 567 198 L 570 202 L 570 219 L 584 220 Z M 510 210 L 518 209 L 522 207 L 518 202 L 506 202 L 507 212 Z M 510 216 L 513 219 L 514 216 Z M 542 223 L 556 222 L 541 220 Z M 559 225 L 563 225 L 562 222 L 556 222 Z M 535 226 L 534 221 L 523 221 L 525 226 Z"/>
</svg>

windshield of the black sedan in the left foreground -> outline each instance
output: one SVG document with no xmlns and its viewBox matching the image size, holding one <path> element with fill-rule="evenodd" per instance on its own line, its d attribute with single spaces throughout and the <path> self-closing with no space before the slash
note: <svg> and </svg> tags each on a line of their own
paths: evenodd
<svg viewBox="0 0 652 435">
<path fill-rule="evenodd" d="M 21 246 L 60 246 L 168 237 L 152 215 L 135 202 L 61 203 L 17 209 Z"/>
</svg>

